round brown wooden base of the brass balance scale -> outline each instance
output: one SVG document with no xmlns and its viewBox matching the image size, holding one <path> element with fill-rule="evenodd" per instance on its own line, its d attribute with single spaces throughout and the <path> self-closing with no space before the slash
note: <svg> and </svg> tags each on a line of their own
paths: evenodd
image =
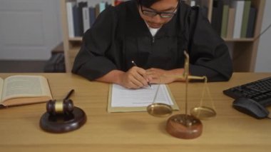
<svg viewBox="0 0 271 152">
<path fill-rule="evenodd" d="M 194 116 L 178 114 L 168 118 L 166 131 L 177 138 L 197 138 L 203 131 L 203 124 Z"/>
</svg>

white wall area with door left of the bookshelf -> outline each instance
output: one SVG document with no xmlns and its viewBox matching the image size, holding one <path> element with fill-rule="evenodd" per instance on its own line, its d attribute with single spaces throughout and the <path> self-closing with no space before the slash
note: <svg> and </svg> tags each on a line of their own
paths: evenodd
<svg viewBox="0 0 271 152">
<path fill-rule="evenodd" d="M 62 41 L 56 0 L 0 1 L 0 59 L 47 60 Z"/>
</svg>

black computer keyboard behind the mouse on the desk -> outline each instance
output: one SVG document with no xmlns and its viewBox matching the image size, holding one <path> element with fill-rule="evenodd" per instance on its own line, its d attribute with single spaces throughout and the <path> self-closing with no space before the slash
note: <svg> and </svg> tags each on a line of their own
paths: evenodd
<svg viewBox="0 0 271 152">
<path fill-rule="evenodd" d="M 224 90 L 223 93 L 232 98 L 252 98 L 262 106 L 271 105 L 271 76 L 258 81 L 242 84 Z"/>
</svg>

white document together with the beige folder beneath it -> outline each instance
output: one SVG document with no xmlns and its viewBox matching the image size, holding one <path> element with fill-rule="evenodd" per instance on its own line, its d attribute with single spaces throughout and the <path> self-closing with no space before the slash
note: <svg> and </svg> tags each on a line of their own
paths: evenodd
<svg viewBox="0 0 271 152">
<path fill-rule="evenodd" d="M 152 88 L 138 89 L 111 84 L 109 91 L 108 112 L 146 111 L 151 103 L 165 103 L 172 106 L 174 110 L 178 110 L 170 89 L 165 84 L 152 84 Z M 158 92 L 155 98 L 156 91 Z"/>
</svg>

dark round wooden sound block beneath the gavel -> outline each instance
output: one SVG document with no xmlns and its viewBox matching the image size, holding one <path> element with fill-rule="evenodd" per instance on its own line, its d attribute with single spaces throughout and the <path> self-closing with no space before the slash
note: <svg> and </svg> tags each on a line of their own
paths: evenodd
<svg viewBox="0 0 271 152">
<path fill-rule="evenodd" d="M 39 122 L 44 131 L 51 133 L 65 133 L 73 131 L 83 126 L 84 123 L 86 123 L 86 113 L 76 106 L 69 115 L 50 115 L 46 112 L 41 116 L 41 120 Z"/>
</svg>

